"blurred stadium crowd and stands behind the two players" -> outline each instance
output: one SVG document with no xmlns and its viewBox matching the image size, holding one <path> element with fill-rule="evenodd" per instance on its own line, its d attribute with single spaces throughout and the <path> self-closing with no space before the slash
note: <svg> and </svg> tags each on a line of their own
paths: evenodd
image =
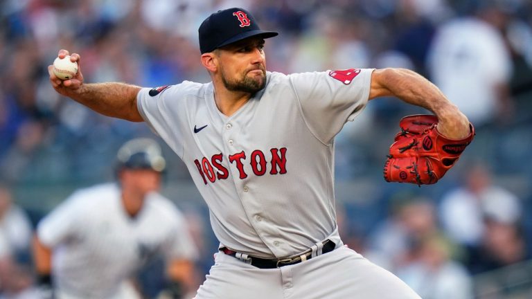
<svg viewBox="0 0 532 299">
<path fill-rule="evenodd" d="M 80 53 L 86 82 L 208 82 L 197 28 L 234 6 L 281 33 L 267 40 L 269 71 L 412 69 L 475 124 L 459 163 L 422 188 L 384 182 L 382 167 L 400 118 L 427 111 L 384 98 L 346 124 L 335 161 L 346 244 L 423 298 L 532 298 L 530 0 L 0 1 L 0 296 L 33 283 L 37 221 L 73 190 L 114 180 L 122 143 L 156 138 L 58 96 L 46 71 L 57 51 Z M 208 210 L 162 146 L 162 193 L 186 214 L 204 275 L 218 248 Z"/>
</svg>

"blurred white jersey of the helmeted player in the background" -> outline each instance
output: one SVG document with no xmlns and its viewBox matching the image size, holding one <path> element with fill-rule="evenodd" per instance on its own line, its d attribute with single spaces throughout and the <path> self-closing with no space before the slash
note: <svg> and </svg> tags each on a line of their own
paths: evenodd
<svg viewBox="0 0 532 299">
<path fill-rule="evenodd" d="M 121 282 L 156 254 L 195 259 L 197 251 L 181 212 L 157 193 L 131 218 L 114 184 L 79 190 L 37 227 L 53 249 L 53 278 L 72 298 L 112 298 Z"/>
</svg>

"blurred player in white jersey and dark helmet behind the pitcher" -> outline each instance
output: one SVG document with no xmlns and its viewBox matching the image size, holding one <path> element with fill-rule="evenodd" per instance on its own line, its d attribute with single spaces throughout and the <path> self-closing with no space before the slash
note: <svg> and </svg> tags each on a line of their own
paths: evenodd
<svg viewBox="0 0 532 299">
<path fill-rule="evenodd" d="M 130 278 L 157 255 L 166 260 L 164 298 L 197 288 L 184 217 L 157 193 L 165 163 L 155 141 L 129 141 L 118 151 L 118 183 L 78 190 L 39 222 L 34 254 L 44 296 L 141 298 Z"/>
</svg>

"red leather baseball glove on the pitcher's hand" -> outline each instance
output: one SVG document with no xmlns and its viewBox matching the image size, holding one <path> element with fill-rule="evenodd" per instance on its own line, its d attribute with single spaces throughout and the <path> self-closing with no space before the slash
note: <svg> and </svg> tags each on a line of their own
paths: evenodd
<svg viewBox="0 0 532 299">
<path fill-rule="evenodd" d="M 436 183 L 456 163 L 473 140 L 475 128 L 462 139 L 438 133 L 438 118 L 432 115 L 405 116 L 384 164 L 384 179 L 389 182 L 428 185 Z"/>
</svg>

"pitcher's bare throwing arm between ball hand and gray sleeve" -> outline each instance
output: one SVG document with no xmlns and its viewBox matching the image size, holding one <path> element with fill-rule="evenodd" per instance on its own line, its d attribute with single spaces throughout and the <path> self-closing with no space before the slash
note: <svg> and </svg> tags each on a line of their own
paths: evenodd
<svg viewBox="0 0 532 299">
<path fill-rule="evenodd" d="M 136 107 L 140 90 L 141 87 L 118 82 L 93 83 L 83 84 L 66 96 L 105 116 L 141 122 L 143 118 Z"/>
</svg>

